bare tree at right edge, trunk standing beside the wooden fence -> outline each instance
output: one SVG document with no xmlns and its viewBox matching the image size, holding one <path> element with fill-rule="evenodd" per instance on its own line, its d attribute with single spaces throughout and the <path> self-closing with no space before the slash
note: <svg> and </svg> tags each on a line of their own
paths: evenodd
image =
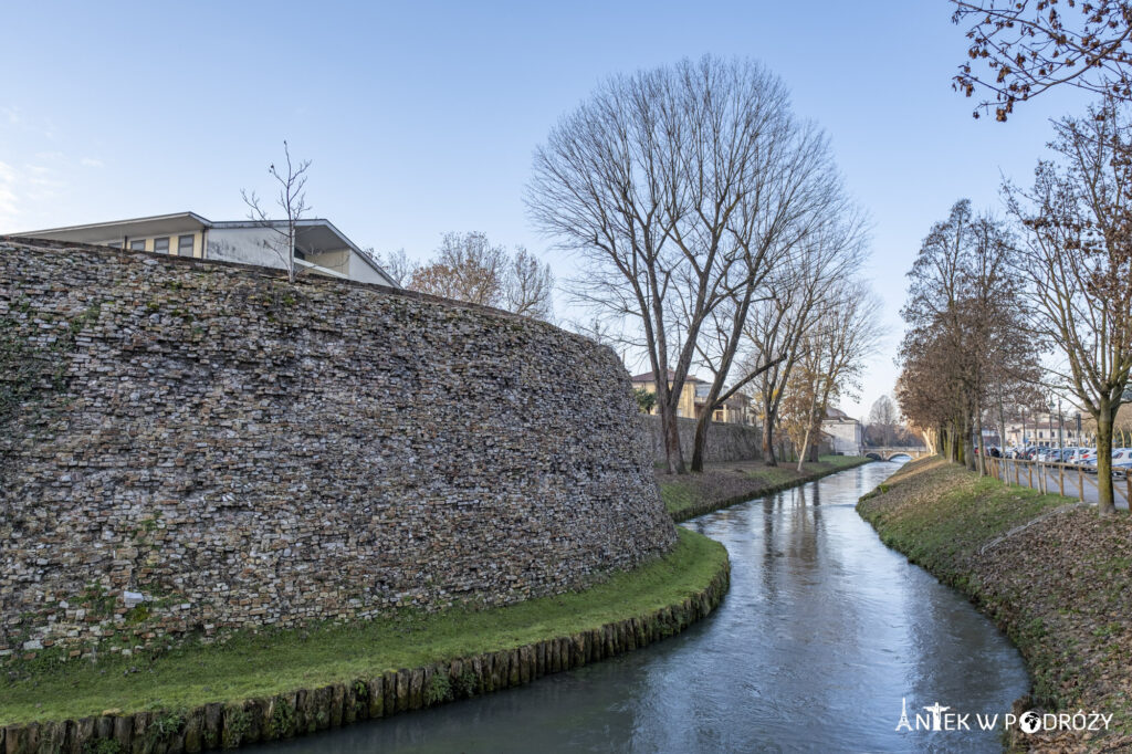
<svg viewBox="0 0 1132 754">
<path fill-rule="evenodd" d="M 1101 514 L 1114 512 L 1113 426 L 1132 370 L 1132 122 L 1113 101 L 1055 125 L 1034 188 L 1005 187 L 1026 231 L 1021 266 L 1031 328 L 1062 358 L 1057 387 L 1097 427 Z"/>
</svg>

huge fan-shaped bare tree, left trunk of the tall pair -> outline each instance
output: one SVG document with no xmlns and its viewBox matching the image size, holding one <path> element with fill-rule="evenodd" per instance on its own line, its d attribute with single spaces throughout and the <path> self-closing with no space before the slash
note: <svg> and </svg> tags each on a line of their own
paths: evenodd
<svg viewBox="0 0 1132 754">
<path fill-rule="evenodd" d="M 705 57 L 607 82 L 535 153 L 531 217 L 581 259 L 574 298 L 632 320 L 670 472 L 685 471 L 677 404 L 701 329 L 757 274 L 740 207 L 788 121 L 778 78 Z"/>
</svg>

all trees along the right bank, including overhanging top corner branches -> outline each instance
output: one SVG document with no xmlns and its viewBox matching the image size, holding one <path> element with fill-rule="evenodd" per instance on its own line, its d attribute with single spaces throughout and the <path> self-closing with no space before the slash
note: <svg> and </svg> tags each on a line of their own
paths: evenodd
<svg viewBox="0 0 1132 754">
<path fill-rule="evenodd" d="M 1032 183 L 1003 183 L 1002 216 L 960 200 L 933 225 L 909 273 L 897 396 L 940 453 L 984 473 L 984 423 L 1067 396 L 1096 428 L 1108 514 L 1132 369 L 1132 7 L 953 2 L 974 22 L 957 84 L 989 91 L 997 120 L 1056 85 L 1103 98 L 1054 123 Z"/>
</svg>

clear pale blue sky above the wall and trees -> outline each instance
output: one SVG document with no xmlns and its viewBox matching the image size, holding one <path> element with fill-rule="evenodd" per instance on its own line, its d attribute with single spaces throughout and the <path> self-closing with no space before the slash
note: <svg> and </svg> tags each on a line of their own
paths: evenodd
<svg viewBox="0 0 1132 754">
<path fill-rule="evenodd" d="M 531 153 L 606 76 L 705 52 L 760 60 L 831 135 L 873 220 L 865 275 L 890 337 L 864 414 L 892 389 L 904 279 L 931 224 L 1027 181 L 1054 94 L 1006 125 L 951 91 L 966 50 L 945 0 L 808 3 L 87 3 L 5 9 L 0 233 L 191 209 L 242 217 L 286 138 L 308 198 L 361 246 L 427 256 L 443 232 L 525 245 Z"/>
</svg>

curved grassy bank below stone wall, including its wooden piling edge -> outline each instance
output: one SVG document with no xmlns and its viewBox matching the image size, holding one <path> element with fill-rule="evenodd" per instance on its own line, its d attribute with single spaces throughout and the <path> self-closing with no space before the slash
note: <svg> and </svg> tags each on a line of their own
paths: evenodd
<svg viewBox="0 0 1132 754">
<path fill-rule="evenodd" d="M 230 748 L 434 706 L 670 636 L 711 612 L 728 583 L 727 550 L 680 530 L 668 556 L 583 592 L 238 634 L 162 656 L 9 666 L 0 751 Z"/>
</svg>

